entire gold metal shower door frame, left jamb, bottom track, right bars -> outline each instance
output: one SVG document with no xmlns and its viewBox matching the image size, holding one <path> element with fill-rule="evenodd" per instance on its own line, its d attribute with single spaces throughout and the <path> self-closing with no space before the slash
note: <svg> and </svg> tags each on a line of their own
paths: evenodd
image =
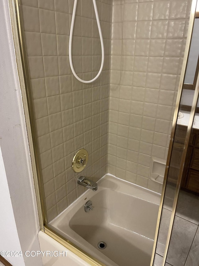
<svg viewBox="0 0 199 266">
<path fill-rule="evenodd" d="M 90 254 L 87 254 L 85 251 L 78 248 L 76 245 L 71 243 L 69 240 L 67 240 L 64 237 L 62 237 L 61 235 L 59 235 L 57 232 L 55 232 L 54 230 L 49 228 L 47 225 L 47 215 L 46 215 L 46 207 L 45 207 L 45 201 L 44 201 L 44 188 L 43 188 L 42 175 L 41 175 L 41 166 L 40 166 L 40 161 L 39 161 L 39 149 L 38 149 L 38 142 L 37 142 L 37 137 L 36 137 L 36 126 L 35 126 L 35 117 L 34 117 L 34 111 L 33 111 L 33 101 L 32 101 L 32 96 L 31 96 L 30 76 L 29 76 L 29 70 L 28 70 L 27 55 L 26 55 L 26 50 L 25 50 L 25 38 L 24 38 L 22 13 L 21 13 L 21 0 L 8 0 L 8 1 L 9 1 L 9 5 L 10 5 L 12 32 L 13 32 L 14 46 L 15 46 L 15 52 L 16 52 L 16 63 L 17 63 L 17 68 L 18 68 L 18 74 L 19 74 L 19 80 L 20 80 L 20 86 L 21 86 L 21 94 L 22 94 L 22 100 L 23 100 L 23 105 L 24 105 L 25 121 L 26 121 L 27 134 L 28 134 L 28 141 L 29 141 L 29 147 L 30 147 L 30 157 L 31 157 L 32 171 L 33 171 L 34 184 L 35 184 L 35 194 L 36 194 L 36 200 L 37 200 L 40 230 L 42 230 L 43 232 L 45 232 L 46 234 L 51 236 L 53 239 L 58 241 L 60 244 L 62 244 L 68 250 L 75 253 L 81 259 L 88 262 L 90 265 L 106 266 L 105 264 L 101 263 L 99 260 L 92 257 Z M 165 192 L 165 187 L 166 187 L 167 174 L 168 174 L 168 170 L 169 170 L 169 163 L 170 163 L 170 158 L 171 158 L 175 127 L 176 127 L 176 123 L 177 123 L 178 108 L 179 108 L 180 99 L 181 99 L 181 93 L 182 93 L 183 80 L 184 80 L 184 75 L 185 75 L 185 70 L 186 70 L 188 52 L 189 52 L 189 47 L 190 47 L 190 42 L 191 42 L 192 29 L 193 29 L 193 23 L 194 23 L 194 18 L 195 18 L 196 3 L 197 3 L 197 0 L 192 0 L 191 14 L 190 14 L 190 20 L 189 20 L 189 28 L 188 28 L 188 34 L 187 34 L 187 43 L 186 43 L 186 47 L 185 47 L 185 53 L 184 53 L 183 66 L 182 66 L 181 77 L 180 77 L 180 82 L 179 82 L 176 107 L 175 107 L 175 111 L 174 111 L 171 140 L 170 140 L 170 144 L 169 144 L 169 152 L 168 152 L 168 157 L 167 157 L 166 171 L 165 171 L 165 175 L 164 175 L 163 190 L 162 190 L 162 195 L 161 195 L 161 200 L 160 200 L 160 208 L 159 208 L 159 213 L 158 213 L 154 247 L 153 247 L 150 266 L 153 265 L 153 261 L 154 261 L 154 257 L 155 257 L 155 248 L 156 248 L 157 236 L 158 236 L 159 225 L 160 225 L 160 217 L 161 217 L 161 212 L 162 212 L 162 208 L 163 208 L 164 192 Z M 189 121 L 190 123 L 189 123 L 188 129 L 187 129 L 187 136 L 186 136 L 187 145 L 188 145 L 188 140 L 189 140 L 190 133 L 191 133 L 194 113 L 195 113 L 195 109 L 196 109 L 196 105 L 197 105 L 198 93 L 199 93 L 199 77 L 197 80 L 197 87 L 196 87 L 196 91 L 194 94 L 194 98 L 196 96 L 196 100 L 193 102 L 193 105 L 192 105 L 190 121 Z M 183 156 L 184 159 L 185 159 L 185 156 L 186 156 L 186 153 Z M 182 166 L 182 164 L 181 164 L 181 166 Z M 180 171 L 180 173 L 181 173 L 181 171 Z M 179 193 L 179 188 L 180 188 L 181 177 L 182 177 L 182 175 L 181 176 L 179 175 L 179 177 L 178 177 L 177 189 L 176 189 L 176 194 L 175 194 L 175 199 L 174 199 L 175 207 L 176 207 L 177 200 L 178 200 L 178 193 Z M 175 215 L 175 209 L 173 209 L 173 211 L 172 211 L 172 218 L 174 218 L 174 215 Z M 169 226 L 169 233 L 170 234 L 171 234 L 171 230 L 173 227 L 172 218 L 171 218 L 171 223 Z M 167 241 L 165 254 L 164 254 L 165 260 L 166 260 L 166 255 L 167 255 L 169 240 L 170 240 L 169 234 L 168 234 L 167 240 L 168 241 Z"/>
</svg>

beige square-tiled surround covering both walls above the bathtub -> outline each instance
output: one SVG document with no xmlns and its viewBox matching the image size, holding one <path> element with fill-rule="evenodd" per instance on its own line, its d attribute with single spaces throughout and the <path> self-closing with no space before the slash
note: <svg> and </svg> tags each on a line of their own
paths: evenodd
<svg viewBox="0 0 199 266">
<path fill-rule="evenodd" d="M 81 175 L 97 181 L 108 172 L 162 190 L 150 162 L 167 157 L 191 0 L 96 3 L 104 68 L 82 84 L 68 57 L 73 1 L 21 0 L 48 220 L 85 191 L 71 167 L 81 148 L 89 153 Z M 77 4 L 72 59 L 82 79 L 100 68 L 91 0 Z"/>
</svg>

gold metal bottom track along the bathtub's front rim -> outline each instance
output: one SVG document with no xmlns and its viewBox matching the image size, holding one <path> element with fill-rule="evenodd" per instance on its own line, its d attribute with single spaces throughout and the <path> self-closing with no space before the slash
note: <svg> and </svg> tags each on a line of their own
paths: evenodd
<svg viewBox="0 0 199 266">
<path fill-rule="evenodd" d="M 55 239 L 58 243 L 62 244 L 65 248 L 72 251 L 74 254 L 79 256 L 81 259 L 88 262 L 90 265 L 93 266 L 106 266 L 104 263 L 101 263 L 98 259 L 95 259 L 90 254 L 86 253 L 79 247 L 77 247 L 75 244 L 70 242 L 69 240 L 66 240 L 62 235 L 59 235 L 56 231 L 51 229 L 50 227 L 44 225 L 44 233 L 51 236 L 53 239 Z"/>
</svg>

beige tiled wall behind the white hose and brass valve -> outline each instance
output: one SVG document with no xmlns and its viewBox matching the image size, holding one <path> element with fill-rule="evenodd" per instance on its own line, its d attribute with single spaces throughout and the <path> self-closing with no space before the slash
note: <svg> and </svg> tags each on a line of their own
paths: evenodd
<svg viewBox="0 0 199 266">
<path fill-rule="evenodd" d="M 104 38 L 104 68 L 92 84 L 78 82 L 68 58 L 73 1 L 21 0 L 48 220 L 85 191 L 72 158 L 85 148 L 81 175 L 96 181 L 107 172 L 112 2 L 96 1 Z M 79 77 L 93 78 L 101 46 L 91 0 L 78 1 L 72 59 Z"/>
</svg>

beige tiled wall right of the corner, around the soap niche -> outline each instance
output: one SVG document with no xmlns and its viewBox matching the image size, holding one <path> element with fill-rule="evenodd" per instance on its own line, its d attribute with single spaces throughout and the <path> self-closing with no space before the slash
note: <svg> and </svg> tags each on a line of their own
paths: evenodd
<svg viewBox="0 0 199 266">
<path fill-rule="evenodd" d="M 191 1 L 113 0 L 108 172 L 161 192 Z"/>
</svg>

